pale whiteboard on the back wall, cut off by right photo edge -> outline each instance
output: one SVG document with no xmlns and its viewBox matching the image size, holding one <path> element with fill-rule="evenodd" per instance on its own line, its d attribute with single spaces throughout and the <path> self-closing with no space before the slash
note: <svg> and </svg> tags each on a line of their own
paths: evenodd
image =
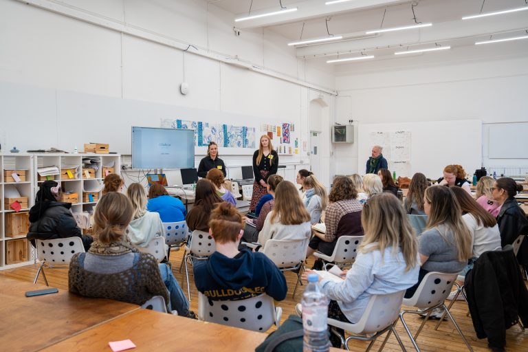
<svg viewBox="0 0 528 352">
<path fill-rule="evenodd" d="M 489 124 L 489 159 L 528 159 L 528 122 Z"/>
</svg>

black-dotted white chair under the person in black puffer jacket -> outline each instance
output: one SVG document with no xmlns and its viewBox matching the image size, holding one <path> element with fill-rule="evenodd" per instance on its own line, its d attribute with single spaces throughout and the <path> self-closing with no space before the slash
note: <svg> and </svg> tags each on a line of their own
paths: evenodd
<svg viewBox="0 0 528 352">
<path fill-rule="evenodd" d="M 36 258 L 41 261 L 41 266 L 36 272 L 35 279 L 33 283 L 39 279 L 39 275 L 42 272 L 44 282 L 46 286 L 47 278 L 44 273 L 44 267 L 50 269 L 58 268 L 69 268 L 69 261 L 72 260 L 72 256 L 76 253 L 85 252 L 85 247 L 83 246 L 83 241 L 80 237 L 67 237 L 65 239 L 46 239 L 35 240 L 36 243 Z"/>
</svg>

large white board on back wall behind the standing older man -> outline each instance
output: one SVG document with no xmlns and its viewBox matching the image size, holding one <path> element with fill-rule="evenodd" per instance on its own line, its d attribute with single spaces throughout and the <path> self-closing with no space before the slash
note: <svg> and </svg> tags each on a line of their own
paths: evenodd
<svg viewBox="0 0 528 352">
<path fill-rule="evenodd" d="M 371 133 L 410 132 L 409 175 L 423 173 L 430 179 L 442 176 L 443 168 L 450 164 L 463 166 L 471 175 L 482 164 L 481 120 L 434 122 L 401 122 L 388 124 L 359 124 L 358 170 L 365 173 L 366 161 L 371 156 Z M 391 160 L 388 160 L 391 162 Z"/>
</svg>

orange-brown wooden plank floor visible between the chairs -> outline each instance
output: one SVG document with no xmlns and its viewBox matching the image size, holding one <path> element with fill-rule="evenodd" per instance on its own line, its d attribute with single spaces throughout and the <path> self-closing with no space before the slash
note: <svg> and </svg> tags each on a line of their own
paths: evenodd
<svg viewBox="0 0 528 352">
<path fill-rule="evenodd" d="M 170 254 L 170 262 L 173 264 L 173 272 L 175 274 L 175 277 L 179 281 L 179 284 L 181 285 L 181 288 L 184 289 L 184 292 L 187 293 L 187 286 L 186 286 L 186 280 L 184 274 L 179 274 L 179 264 L 181 263 L 181 256 L 183 254 L 183 251 L 179 252 L 171 252 Z M 309 265 L 313 263 L 313 259 L 309 259 Z M 36 270 L 38 268 L 38 265 L 28 265 L 25 267 L 18 267 L 16 269 L 11 270 L 5 270 L 0 271 L 0 275 L 7 275 L 12 278 L 18 278 L 25 281 L 33 281 L 34 276 L 36 274 Z M 184 271 L 183 271 L 184 272 Z M 191 269 L 192 274 L 192 269 Z M 295 314 L 295 305 L 300 302 L 301 295 L 303 293 L 304 286 L 300 286 L 300 289 L 298 289 L 298 292 L 296 294 L 295 299 L 292 299 L 292 293 L 296 282 L 296 274 L 293 274 L 292 272 L 287 272 L 285 274 L 286 280 L 289 287 L 288 296 L 285 300 L 278 303 L 280 307 L 283 308 L 283 318 L 282 321 L 284 321 L 290 314 Z M 59 289 L 67 289 L 68 287 L 68 279 L 67 279 L 67 270 L 66 269 L 54 269 L 54 270 L 46 270 L 46 277 L 47 280 L 50 283 L 50 286 L 52 287 L 58 287 Z M 190 295 L 191 295 L 191 302 L 190 302 L 190 308 L 197 312 L 198 311 L 198 300 L 197 300 L 197 290 L 194 285 L 194 281 L 192 279 L 192 275 L 190 276 L 191 281 L 191 287 L 190 287 Z M 39 282 L 43 283 L 43 278 L 39 278 Z M 473 325 L 471 318 L 466 317 L 467 313 L 467 305 L 463 301 L 457 301 L 454 306 L 451 309 L 451 312 L 456 319 L 456 321 L 459 323 L 463 333 L 465 334 L 465 337 L 472 345 L 474 351 L 490 351 L 487 348 L 487 340 L 478 340 L 476 338 L 476 335 L 474 333 Z M 408 325 L 410 326 L 410 329 L 412 332 L 415 332 L 419 325 L 421 324 L 421 319 L 415 317 L 414 315 L 406 315 L 406 321 L 408 321 Z M 434 325 L 436 325 L 436 321 L 430 321 L 426 323 L 426 326 L 423 328 L 423 330 L 420 333 L 420 336 L 418 338 L 418 345 L 421 348 L 422 351 L 467 351 L 467 348 L 465 347 L 465 344 L 463 344 L 463 341 L 459 334 L 456 332 L 454 327 L 451 325 L 450 322 L 444 321 L 442 322 L 441 326 L 439 327 L 438 331 L 434 330 Z M 270 329 L 270 331 L 274 330 L 274 328 Z M 403 340 L 406 347 L 409 349 L 409 351 L 413 351 L 412 344 L 410 344 L 410 340 L 408 339 L 408 336 L 404 332 L 403 327 L 401 326 L 401 322 L 397 324 L 397 331 L 399 333 L 399 336 Z M 528 351 L 528 329 L 523 332 L 520 327 L 517 325 L 514 327 L 511 327 L 509 330 L 507 330 L 507 351 L 516 351 L 516 352 L 527 352 Z M 380 339 L 382 340 L 382 339 Z M 379 349 L 381 342 L 376 342 L 373 351 L 376 351 Z M 351 351 L 365 351 L 366 349 L 366 343 L 364 342 L 356 342 L 352 341 L 349 343 L 349 347 L 351 347 Z M 377 348 L 376 348 L 377 347 Z M 393 336 L 388 340 L 386 347 L 384 347 L 384 351 L 401 351 L 399 349 L 399 345 L 397 344 L 397 341 Z"/>
</svg>

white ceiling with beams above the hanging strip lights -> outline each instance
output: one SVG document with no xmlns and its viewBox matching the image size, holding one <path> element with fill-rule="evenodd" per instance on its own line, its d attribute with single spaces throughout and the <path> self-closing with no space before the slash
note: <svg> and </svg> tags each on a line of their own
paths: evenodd
<svg viewBox="0 0 528 352">
<path fill-rule="evenodd" d="M 287 14 L 234 21 L 241 35 L 244 30 L 267 28 L 289 41 L 343 37 L 338 41 L 296 46 L 297 57 L 303 59 L 327 61 L 371 55 L 377 60 L 394 58 L 395 52 L 403 50 L 450 46 L 453 51 L 459 47 L 474 47 L 476 41 L 528 35 L 528 10 L 462 20 L 467 15 L 526 7 L 526 0 L 351 0 L 325 5 L 327 1 L 330 0 L 210 0 L 209 3 L 231 12 L 234 19 L 281 10 L 281 3 L 283 8 L 298 8 Z M 417 23 L 432 25 L 397 32 L 365 33 Z M 490 45 L 496 50 L 508 50 L 515 45 L 528 48 L 528 40 Z"/>
</svg>

